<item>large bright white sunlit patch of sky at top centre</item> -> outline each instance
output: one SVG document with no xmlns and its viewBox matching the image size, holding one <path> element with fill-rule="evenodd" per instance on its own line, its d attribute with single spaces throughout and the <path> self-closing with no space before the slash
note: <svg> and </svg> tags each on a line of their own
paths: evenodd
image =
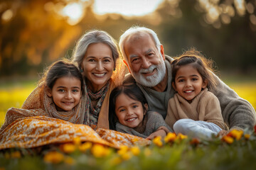
<svg viewBox="0 0 256 170">
<path fill-rule="evenodd" d="M 97 14 L 120 13 L 124 16 L 144 16 L 154 11 L 163 0 L 95 0 Z"/>
</svg>

